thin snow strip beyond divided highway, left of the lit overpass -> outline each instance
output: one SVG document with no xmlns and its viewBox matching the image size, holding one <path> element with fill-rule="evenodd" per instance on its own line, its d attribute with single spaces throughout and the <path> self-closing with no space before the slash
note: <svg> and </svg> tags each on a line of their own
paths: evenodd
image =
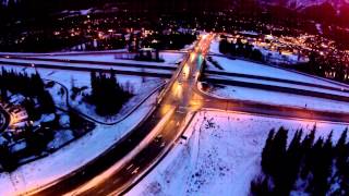
<svg viewBox="0 0 349 196">
<path fill-rule="evenodd" d="M 160 58 L 165 60 L 164 63 L 158 62 L 144 62 L 134 60 L 116 59 L 113 53 L 108 54 L 76 54 L 76 56 L 43 56 L 39 58 L 45 59 L 69 59 L 69 60 L 83 60 L 83 61 L 100 61 L 100 62 L 116 62 L 116 63 L 134 63 L 134 64 L 176 64 L 183 59 L 183 53 L 160 52 Z"/>
</svg>

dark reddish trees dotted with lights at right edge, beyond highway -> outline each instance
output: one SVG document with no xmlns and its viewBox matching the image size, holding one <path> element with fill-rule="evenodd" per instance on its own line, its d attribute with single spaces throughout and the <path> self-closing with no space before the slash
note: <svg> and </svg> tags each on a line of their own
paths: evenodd
<svg viewBox="0 0 349 196">
<path fill-rule="evenodd" d="M 299 64 L 297 70 L 321 77 L 332 78 L 341 83 L 349 83 L 349 64 L 346 62 L 344 54 L 326 54 L 321 56 L 317 52 L 312 52 L 309 57 L 309 62 Z"/>
</svg>

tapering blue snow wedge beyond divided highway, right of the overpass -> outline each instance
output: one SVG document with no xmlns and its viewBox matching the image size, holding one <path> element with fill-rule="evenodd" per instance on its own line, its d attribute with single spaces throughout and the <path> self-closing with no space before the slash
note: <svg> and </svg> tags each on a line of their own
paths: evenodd
<svg viewBox="0 0 349 196">
<path fill-rule="evenodd" d="M 284 78 L 284 79 L 290 79 L 290 81 L 297 81 L 297 82 L 333 86 L 337 88 L 344 87 L 344 85 L 337 85 L 332 82 L 327 82 L 325 79 L 320 79 L 320 78 L 298 74 L 294 72 L 289 72 L 286 70 L 281 70 L 281 69 L 260 64 L 260 63 L 254 63 L 254 62 L 249 62 L 243 60 L 231 60 L 222 57 L 212 57 L 212 58 L 214 61 L 217 61 L 219 65 L 222 66 L 224 70 L 227 72 Z M 208 66 L 208 70 L 219 71 L 215 66 Z M 347 88 L 349 89 L 349 86 Z"/>
</svg>

